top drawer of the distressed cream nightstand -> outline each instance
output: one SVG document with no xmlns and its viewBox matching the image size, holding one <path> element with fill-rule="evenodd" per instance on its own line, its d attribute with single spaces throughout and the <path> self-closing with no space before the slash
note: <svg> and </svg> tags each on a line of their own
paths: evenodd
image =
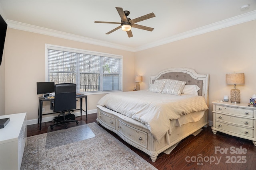
<svg viewBox="0 0 256 170">
<path fill-rule="evenodd" d="M 215 106 L 215 111 L 221 112 L 221 113 L 229 113 L 232 115 L 239 115 L 244 117 L 254 117 L 254 111 L 250 109 L 240 109 L 236 107 L 227 107 L 227 106 Z"/>
</svg>

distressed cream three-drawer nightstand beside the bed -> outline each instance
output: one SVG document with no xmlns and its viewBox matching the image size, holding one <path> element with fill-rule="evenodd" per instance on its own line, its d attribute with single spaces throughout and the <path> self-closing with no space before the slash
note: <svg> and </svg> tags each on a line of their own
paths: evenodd
<svg viewBox="0 0 256 170">
<path fill-rule="evenodd" d="M 217 131 L 251 140 L 256 146 L 256 107 L 214 101 L 212 133 Z"/>
</svg>

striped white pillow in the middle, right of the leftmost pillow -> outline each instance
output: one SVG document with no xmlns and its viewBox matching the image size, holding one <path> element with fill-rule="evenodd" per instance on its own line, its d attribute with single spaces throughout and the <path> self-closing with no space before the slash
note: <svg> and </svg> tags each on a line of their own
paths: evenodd
<svg viewBox="0 0 256 170">
<path fill-rule="evenodd" d="M 162 93 L 180 96 L 186 82 L 168 79 Z"/>
</svg>

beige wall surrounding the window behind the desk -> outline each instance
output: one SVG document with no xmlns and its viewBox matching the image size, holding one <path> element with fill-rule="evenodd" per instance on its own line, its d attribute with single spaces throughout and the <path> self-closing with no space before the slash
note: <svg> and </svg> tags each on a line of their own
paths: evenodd
<svg viewBox="0 0 256 170">
<path fill-rule="evenodd" d="M 135 69 L 132 52 L 8 28 L 5 43 L 6 115 L 27 112 L 28 120 L 37 119 L 40 95 L 36 94 L 36 82 L 45 81 L 45 44 L 122 55 L 123 91 L 133 90 Z M 89 111 L 96 109 L 96 103 L 102 96 L 88 96 Z M 51 112 L 49 102 L 44 103 L 46 112 Z"/>
</svg>

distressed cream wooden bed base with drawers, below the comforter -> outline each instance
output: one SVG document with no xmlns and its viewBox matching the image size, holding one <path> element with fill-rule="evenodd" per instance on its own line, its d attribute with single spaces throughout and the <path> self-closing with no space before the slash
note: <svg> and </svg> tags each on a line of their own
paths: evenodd
<svg viewBox="0 0 256 170">
<path fill-rule="evenodd" d="M 207 125 L 206 111 L 202 119 L 181 127 L 174 127 L 173 134 L 166 135 L 158 143 L 148 128 L 141 122 L 102 106 L 97 106 L 97 109 L 98 123 L 116 133 L 130 145 L 148 154 L 152 162 L 156 161 L 158 154 Z"/>
</svg>

